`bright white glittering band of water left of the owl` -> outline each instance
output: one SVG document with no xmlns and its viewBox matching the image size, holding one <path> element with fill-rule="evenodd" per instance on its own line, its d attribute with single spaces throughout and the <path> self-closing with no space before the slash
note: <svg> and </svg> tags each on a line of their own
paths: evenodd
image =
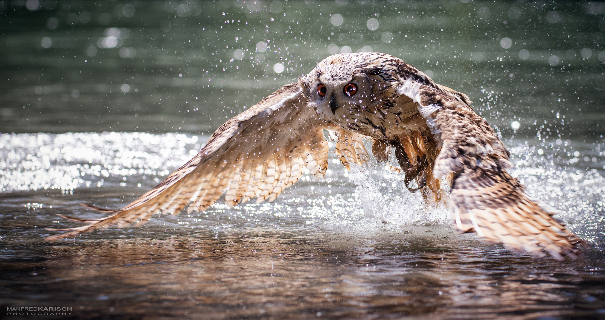
<svg viewBox="0 0 605 320">
<path fill-rule="evenodd" d="M 197 154 L 200 142 L 177 133 L 2 134 L 0 184 L 3 192 L 11 192 L 100 187 L 105 178 L 118 176 L 159 182 Z"/>
</svg>

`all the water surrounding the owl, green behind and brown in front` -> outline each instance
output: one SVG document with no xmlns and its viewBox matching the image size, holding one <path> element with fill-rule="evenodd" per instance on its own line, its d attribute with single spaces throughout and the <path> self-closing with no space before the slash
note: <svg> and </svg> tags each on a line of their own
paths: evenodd
<svg viewBox="0 0 605 320">
<path fill-rule="evenodd" d="M 605 318 L 604 11 L 568 2 L 0 2 L 2 312 Z M 446 209 L 402 191 L 399 175 L 376 163 L 347 173 L 334 158 L 324 179 L 306 174 L 271 204 L 218 201 L 142 227 L 42 241 L 46 227 L 76 225 L 56 214 L 100 217 L 79 203 L 121 207 L 244 107 L 330 53 L 368 47 L 469 94 L 511 148 L 512 173 L 587 241 L 584 255 L 536 260 L 456 235 Z"/>
</svg>

